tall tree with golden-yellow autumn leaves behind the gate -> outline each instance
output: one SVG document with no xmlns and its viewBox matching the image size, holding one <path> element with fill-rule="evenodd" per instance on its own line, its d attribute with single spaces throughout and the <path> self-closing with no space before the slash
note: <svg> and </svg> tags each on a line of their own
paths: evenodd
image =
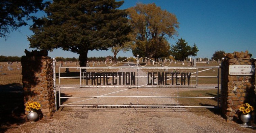
<svg viewBox="0 0 256 133">
<path fill-rule="evenodd" d="M 148 58 L 169 56 L 167 39 L 178 35 L 179 23 L 174 14 L 161 10 L 156 4 L 137 4 L 129 8 L 130 23 L 133 28 L 133 55 Z M 159 54 L 161 53 L 161 54 Z"/>
</svg>

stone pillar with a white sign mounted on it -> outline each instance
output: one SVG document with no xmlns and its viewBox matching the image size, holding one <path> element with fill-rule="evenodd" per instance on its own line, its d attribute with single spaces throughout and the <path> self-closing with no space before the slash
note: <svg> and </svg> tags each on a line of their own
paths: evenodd
<svg viewBox="0 0 256 133">
<path fill-rule="evenodd" d="M 248 54 L 248 51 L 227 53 L 226 59 L 222 62 L 221 109 L 223 117 L 228 122 L 240 121 L 241 112 L 238 109 L 241 104 L 249 103 L 255 108 L 255 74 L 251 76 L 229 75 L 229 65 L 255 66 L 255 59 L 250 59 L 250 57 L 251 54 Z M 255 68 L 252 71 L 255 72 Z"/>
</svg>

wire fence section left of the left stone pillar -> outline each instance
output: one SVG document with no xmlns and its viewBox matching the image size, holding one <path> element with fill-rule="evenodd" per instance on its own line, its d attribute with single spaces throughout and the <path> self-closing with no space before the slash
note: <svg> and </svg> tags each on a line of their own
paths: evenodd
<svg viewBox="0 0 256 133">
<path fill-rule="evenodd" d="M 20 62 L 0 63 L 0 85 L 22 84 L 21 71 Z"/>
</svg>

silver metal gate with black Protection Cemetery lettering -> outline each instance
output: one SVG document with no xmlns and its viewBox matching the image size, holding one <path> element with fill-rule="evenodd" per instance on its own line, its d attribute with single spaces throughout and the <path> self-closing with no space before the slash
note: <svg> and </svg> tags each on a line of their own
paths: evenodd
<svg viewBox="0 0 256 133">
<path fill-rule="evenodd" d="M 144 63 L 139 62 L 143 58 L 161 67 L 146 67 L 147 60 Z M 128 61 L 127 66 L 118 66 L 125 61 Z M 114 65 L 110 65 L 111 62 L 110 59 L 105 61 L 107 67 L 59 67 L 59 106 L 219 108 L 220 66 L 169 67 L 171 65 L 169 59 L 165 59 L 160 64 L 147 57 L 129 57 Z M 198 76 L 198 70 L 202 68 L 204 69 L 202 71 L 217 69 L 217 76 Z M 79 75 L 74 73 L 74 76 L 66 76 L 65 73 L 61 73 L 63 69 L 77 70 L 79 72 L 76 72 L 76 74 Z M 199 86 L 198 79 L 200 78 L 217 80 L 217 84 L 214 86 Z M 61 80 L 63 79 L 66 79 L 66 81 L 67 79 L 79 80 L 80 85 L 62 85 L 63 82 Z M 188 88 L 216 88 L 217 96 L 179 96 L 179 89 Z M 169 93 L 173 92 L 173 90 L 177 91 L 177 95 Z M 175 103 L 170 102 L 174 98 L 177 101 L 175 100 Z M 216 98 L 217 106 L 183 106 L 179 104 L 179 98 Z"/>
</svg>

